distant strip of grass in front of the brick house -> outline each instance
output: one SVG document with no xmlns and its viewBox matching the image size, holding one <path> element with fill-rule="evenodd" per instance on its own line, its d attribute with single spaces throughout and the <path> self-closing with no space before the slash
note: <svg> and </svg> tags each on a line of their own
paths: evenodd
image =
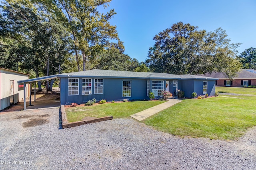
<svg viewBox="0 0 256 170">
<path fill-rule="evenodd" d="M 236 94 L 254 94 L 256 95 L 256 88 L 247 87 L 216 87 L 217 93 L 236 93 Z"/>
</svg>

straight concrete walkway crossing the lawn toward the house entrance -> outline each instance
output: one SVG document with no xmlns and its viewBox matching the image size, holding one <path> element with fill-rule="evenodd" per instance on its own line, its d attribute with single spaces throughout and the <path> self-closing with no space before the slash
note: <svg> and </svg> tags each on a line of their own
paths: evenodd
<svg viewBox="0 0 256 170">
<path fill-rule="evenodd" d="M 134 119 L 137 119 L 138 121 L 142 121 L 142 120 L 146 119 L 147 117 L 150 117 L 150 116 L 158 113 L 159 111 L 167 109 L 168 107 L 170 107 L 174 104 L 177 104 L 181 101 L 182 100 L 179 100 L 177 98 L 171 98 L 171 99 L 168 99 L 168 102 L 164 102 L 164 103 L 159 104 L 157 106 L 150 107 L 146 110 L 135 113 L 135 114 L 131 115 L 131 117 L 133 117 Z"/>
</svg>

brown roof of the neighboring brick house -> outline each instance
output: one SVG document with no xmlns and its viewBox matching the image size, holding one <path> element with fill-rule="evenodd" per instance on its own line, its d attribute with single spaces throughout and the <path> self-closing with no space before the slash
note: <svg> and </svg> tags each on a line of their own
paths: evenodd
<svg viewBox="0 0 256 170">
<path fill-rule="evenodd" d="M 240 69 L 238 72 L 236 72 L 237 76 L 234 77 L 233 79 L 256 79 L 256 74 L 244 69 Z M 212 72 L 210 73 L 205 73 L 205 74 L 198 74 L 198 76 L 207 76 L 207 77 L 215 77 L 219 79 L 228 79 L 226 75 L 224 75 L 222 72 Z"/>
</svg>

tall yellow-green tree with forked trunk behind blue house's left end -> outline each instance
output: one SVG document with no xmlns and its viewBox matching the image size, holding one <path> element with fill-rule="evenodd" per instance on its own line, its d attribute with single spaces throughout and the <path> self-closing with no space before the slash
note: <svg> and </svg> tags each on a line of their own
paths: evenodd
<svg viewBox="0 0 256 170">
<path fill-rule="evenodd" d="M 116 26 L 112 26 L 109 20 L 116 14 L 114 9 L 106 14 L 98 11 L 99 6 L 108 6 L 111 0 L 40 0 L 48 6 L 48 10 L 54 12 L 59 21 L 62 21 L 72 33 L 74 51 L 78 71 L 79 51 L 82 53 L 83 70 L 86 70 L 87 61 L 93 61 L 96 54 L 104 48 L 110 47 L 110 42 L 116 40 L 119 45 L 122 42 L 118 38 Z"/>
</svg>

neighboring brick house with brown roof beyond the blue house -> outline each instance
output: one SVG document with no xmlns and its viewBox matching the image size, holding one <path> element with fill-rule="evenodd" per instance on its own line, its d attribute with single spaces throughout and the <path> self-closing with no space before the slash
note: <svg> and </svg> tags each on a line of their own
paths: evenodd
<svg viewBox="0 0 256 170">
<path fill-rule="evenodd" d="M 198 74 L 198 76 L 214 77 L 219 80 L 215 81 L 215 86 L 230 86 L 230 87 L 248 87 L 256 86 L 256 74 L 245 69 L 240 69 L 237 76 L 232 80 L 228 79 L 222 72 L 212 72 L 205 74 Z"/>
</svg>

